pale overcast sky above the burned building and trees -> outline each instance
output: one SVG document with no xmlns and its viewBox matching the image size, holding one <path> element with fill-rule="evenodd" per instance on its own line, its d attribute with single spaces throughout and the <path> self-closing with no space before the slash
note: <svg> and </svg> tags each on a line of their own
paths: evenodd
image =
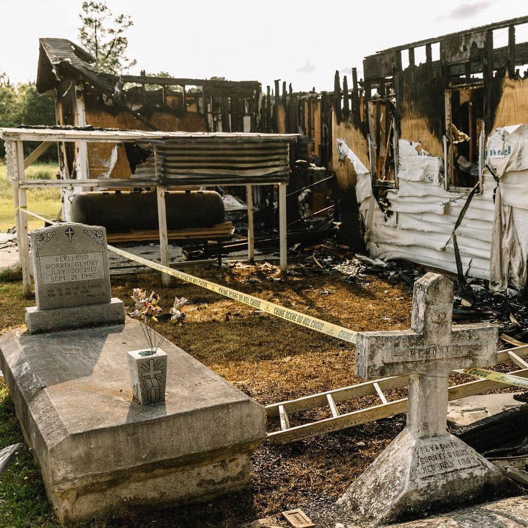
<svg viewBox="0 0 528 528">
<path fill-rule="evenodd" d="M 406 42 L 528 14 L 527 0 L 108 0 L 131 15 L 130 73 L 175 77 L 274 79 L 295 91 L 332 90 L 335 70 L 362 76 L 365 55 Z M 34 80 L 39 37 L 78 41 L 81 0 L 0 0 L 0 72 Z M 528 41 L 528 24 L 517 41 Z M 494 35 L 505 45 L 504 30 Z M 420 53 L 417 53 L 417 61 Z M 434 58 L 434 56 L 433 56 Z M 349 82 L 350 86 L 350 82 Z"/>
</svg>

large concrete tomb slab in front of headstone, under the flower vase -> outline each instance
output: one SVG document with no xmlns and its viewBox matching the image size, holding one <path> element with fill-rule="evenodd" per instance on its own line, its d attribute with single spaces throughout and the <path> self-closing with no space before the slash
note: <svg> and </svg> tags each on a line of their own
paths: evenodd
<svg viewBox="0 0 528 528">
<path fill-rule="evenodd" d="M 168 341 L 165 401 L 134 403 L 126 353 L 144 341 L 130 319 L 0 337 L 0 367 L 61 521 L 249 487 L 263 407 Z"/>
</svg>

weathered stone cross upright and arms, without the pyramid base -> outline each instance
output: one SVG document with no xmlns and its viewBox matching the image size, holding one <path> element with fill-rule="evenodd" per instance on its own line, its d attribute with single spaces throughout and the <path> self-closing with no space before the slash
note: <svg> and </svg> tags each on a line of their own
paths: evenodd
<svg viewBox="0 0 528 528">
<path fill-rule="evenodd" d="M 407 427 L 418 438 L 446 433 L 451 370 L 496 362 L 496 326 L 451 327 L 452 308 L 452 282 L 428 273 L 414 283 L 410 330 L 357 334 L 356 375 L 409 375 Z"/>
</svg>

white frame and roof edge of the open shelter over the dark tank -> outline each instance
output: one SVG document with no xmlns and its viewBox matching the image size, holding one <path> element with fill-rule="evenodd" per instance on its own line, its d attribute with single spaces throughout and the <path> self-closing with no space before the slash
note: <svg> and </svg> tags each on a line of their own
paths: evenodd
<svg viewBox="0 0 528 528">
<path fill-rule="evenodd" d="M 31 261 L 29 239 L 27 230 L 27 214 L 20 210 L 27 206 L 26 190 L 37 187 L 85 187 L 89 190 L 96 188 L 152 188 L 156 187 L 157 207 L 159 220 L 159 246 L 161 263 L 169 266 L 167 217 L 165 209 L 165 191 L 174 188 L 188 188 L 189 183 L 161 182 L 161 167 L 156 155 L 156 142 L 163 139 L 191 139 L 203 142 L 286 142 L 289 153 L 289 143 L 297 139 L 297 134 L 257 134 L 257 133 L 186 133 L 186 132 L 151 132 L 141 130 L 79 130 L 69 128 L 0 128 L 0 138 L 6 143 L 7 178 L 13 188 L 13 203 L 15 207 L 15 225 L 18 243 L 18 258 L 22 268 L 22 281 L 24 297 L 30 298 L 31 293 Z M 42 142 L 26 159 L 24 159 L 24 141 Z M 25 169 L 45 152 L 54 142 L 73 142 L 80 145 L 87 143 L 124 143 L 134 142 L 154 145 L 155 177 L 131 177 L 128 180 L 117 178 L 75 178 L 69 180 L 26 180 Z M 214 185 L 222 185 L 215 180 Z M 233 183 L 232 178 L 227 185 L 244 185 L 248 194 L 248 259 L 254 257 L 253 235 L 253 204 L 251 199 L 252 185 L 278 185 L 279 186 L 279 243 L 280 243 L 280 269 L 287 269 L 287 219 L 286 219 L 286 185 L 285 181 L 266 181 L 256 183 Z M 162 274 L 164 286 L 170 281 L 170 276 Z"/>
</svg>

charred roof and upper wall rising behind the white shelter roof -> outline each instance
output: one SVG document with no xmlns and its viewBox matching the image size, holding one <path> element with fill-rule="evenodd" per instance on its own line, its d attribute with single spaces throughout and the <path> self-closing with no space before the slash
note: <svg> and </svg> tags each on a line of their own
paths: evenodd
<svg viewBox="0 0 528 528">
<path fill-rule="evenodd" d="M 261 97 L 258 81 L 147 77 L 144 74 L 117 77 L 100 71 L 95 62 L 89 53 L 68 40 L 41 39 L 37 90 L 44 93 L 65 80 L 74 83 L 82 81 L 93 92 L 104 96 L 97 98 L 99 108 L 109 111 L 111 106 L 115 106 L 152 130 L 159 128 L 153 122 L 154 113 L 181 118 L 187 111 L 203 117 L 203 125 L 199 128 L 204 131 L 217 131 L 220 127 L 229 131 L 233 122 L 234 130 L 243 131 L 244 117 L 250 118 L 249 130 L 246 125 L 246 131 L 257 130 Z M 146 89 L 147 85 L 151 89 Z M 58 97 L 62 97 L 59 92 Z M 230 115 L 231 108 L 237 115 Z M 228 119 L 225 114 L 228 114 Z M 166 121 L 168 124 L 170 119 Z M 174 129 L 174 122 L 169 129 Z M 59 124 L 74 125 L 72 121 L 59 121 Z M 98 122 L 90 124 L 104 126 Z M 187 121 L 186 127 L 189 126 Z M 191 128 L 197 126 L 195 124 Z"/>
</svg>

